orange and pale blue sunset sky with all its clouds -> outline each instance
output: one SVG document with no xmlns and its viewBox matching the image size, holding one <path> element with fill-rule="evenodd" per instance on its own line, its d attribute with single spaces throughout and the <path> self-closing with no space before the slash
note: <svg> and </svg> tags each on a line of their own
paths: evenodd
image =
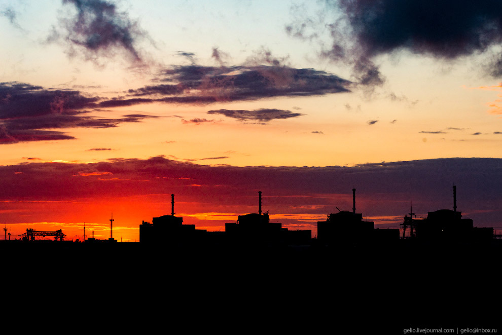
<svg viewBox="0 0 502 335">
<path fill-rule="evenodd" d="M 0 0 L 0 224 L 502 230 L 502 3 Z M 2 222 L 3 221 L 3 222 Z M 0 237 L 3 239 L 4 236 Z"/>
</svg>

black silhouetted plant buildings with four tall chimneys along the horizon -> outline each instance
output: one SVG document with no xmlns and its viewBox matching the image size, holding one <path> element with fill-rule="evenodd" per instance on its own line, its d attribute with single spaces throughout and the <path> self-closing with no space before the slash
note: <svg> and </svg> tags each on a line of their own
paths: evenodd
<svg viewBox="0 0 502 335">
<path fill-rule="evenodd" d="M 175 216 L 174 194 L 171 195 L 171 214 L 153 217 L 151 222 L 139 225 L 139 244 L 148 246 L 225 246 L 225 247 L 347 247 L 366 246 L 375 243 L 393 244 L 397 241 L 419 241 L 421 243 L 490 243 L 494 241 L 493 228 L 474 227 L 473 220 L 462 218 L 457 211 L 456 187 L 453 186 L 453 210 L 440 209 L 428 212 L 426 218 L 417 219 L 414 213 L 404 216 L 401 229 L 375 228 L 372 221 L 363 220 L 362 213 L 356 213 L 355 189 L 352 189 L 352 211 L 338 209 L 328 214 L 325 221 L 317 222 L 317 236 L 311 237 L 311 230 L 289 230 L 282 224 L 270 222 L 269 214 L 262 212 L 262 192 L 258 192 L 258 213 L 239 215 L 237 222 L 225 224 L 225 231 L 196 229 L 195 225 L 183 223 L 183 217 Z M 99 240 L 85 237 L 87 243 L 117 242 L 113 238 L 113 214 L 110 219 L 110 238 Z M 4 228 L 7 240 L 7 229 Z M 55 232 L 35 231 L 28 228 L 21 235 L 22 241 L 34 241 L 36 236 L 53 236 L 63 241 L 61 230 Z M 9 234 L 10 240 L 10 234 Z"/>
</svg>

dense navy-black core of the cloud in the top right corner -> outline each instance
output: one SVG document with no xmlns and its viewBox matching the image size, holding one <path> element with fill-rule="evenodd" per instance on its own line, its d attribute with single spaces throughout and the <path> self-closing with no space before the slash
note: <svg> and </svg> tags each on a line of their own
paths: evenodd
<svg viewBox="0 0 502 335">
<path fill-rule="evenodd" d="M 483 52 L 502 41 L 497 0 L 341 0 L 358 45 L 367 57 L 401 49 L 452 59 Z"/>
</svg>

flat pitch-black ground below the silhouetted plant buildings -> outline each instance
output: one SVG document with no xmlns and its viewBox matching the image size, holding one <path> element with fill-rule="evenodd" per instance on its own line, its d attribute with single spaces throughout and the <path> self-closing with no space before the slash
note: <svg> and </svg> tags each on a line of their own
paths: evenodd
<svg viewBox="0 0 502 335">
<path fill-rule="evenodd" d="M 400 242 L 0 241 L 4 321 L 148 333 L 502 332 L 501 245 Z"/>
</svg>

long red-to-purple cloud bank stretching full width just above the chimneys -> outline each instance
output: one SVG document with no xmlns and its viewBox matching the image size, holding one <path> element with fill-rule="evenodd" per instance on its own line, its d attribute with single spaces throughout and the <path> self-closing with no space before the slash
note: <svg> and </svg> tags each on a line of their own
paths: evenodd
<svg viewBox="0 0 502 335">
<path fill-rule="evenodd" d="M 223 159 L 212 157 L 208 159 Z M 457 205 L 477 226 L 494 227 L 500 221 L 502 159 L 451 158 L 408 162 L 361 164 L 353 167 L 208 166 L 164 157 L 112 159 L 99 163 L 23 163 L 0 166 L 4 181 L 0 201 L 110 197 L 106 182 L 116 183 L 116 197 L 176 194 L 187 201 L 219 208 L 226 204 L 254 204 L 258 190 L 271 213 L 290 205 L 318 205 L 317 214 L 352 208 L 357 189 L 357 210 L 365 215 L 409 213 L 411 201 L 417 215 L 452 208 L 452 185 L 457 185 Z M 16 174 L 16 172 L 18 172 Z M 19 173 L 22 172 L 22 173 Z M 206 185 L 190 190 L 190 184 Z M 255 192 L 256 190 L 256 192 Z M 168 198 L 168 196 L 166 196 Z M 475 213 L 490 213 L 478 214 Z M 483 216 L 485 215 L 485 216 Z M 497 225 L 498 224 L 498 225 Z"/>
</svg>

